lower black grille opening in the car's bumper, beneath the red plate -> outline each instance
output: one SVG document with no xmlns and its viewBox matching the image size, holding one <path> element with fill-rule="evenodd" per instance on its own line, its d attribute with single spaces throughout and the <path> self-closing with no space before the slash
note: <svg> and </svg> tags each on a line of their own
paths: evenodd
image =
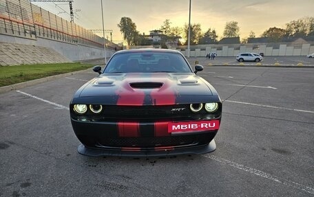
<svg viewBox="0 0 314 197">
<path fill-rule="evenodd" d="M 116 137 L 96 139 L 98 146 L 116 148 L 158 148 L 163 146 L 196 146 L 209 143 L 216 132 L 169 137 Z"/>
</svg>

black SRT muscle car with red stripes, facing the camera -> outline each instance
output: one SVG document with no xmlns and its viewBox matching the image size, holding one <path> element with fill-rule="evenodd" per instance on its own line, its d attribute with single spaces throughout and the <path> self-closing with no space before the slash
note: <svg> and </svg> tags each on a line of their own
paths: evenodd
<svg viewBox="0 0 314 197">
<path fill-rule="evenodd" d="M 76 91 L 70 117 L 80 154 L 165 156 L 216 149 L 222 102 L 179 52 L 117 51 Z"/>
</svg>

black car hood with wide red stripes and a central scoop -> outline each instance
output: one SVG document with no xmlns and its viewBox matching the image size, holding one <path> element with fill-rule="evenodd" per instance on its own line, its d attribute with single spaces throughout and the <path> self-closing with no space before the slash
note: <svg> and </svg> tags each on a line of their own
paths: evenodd
<svg viewBox="0 0 314 197">
<path fill-rule="evenodd" d="M 102 74 L 82 86 L 75 97 L 80 98 L 76 102 L 120 105 L 220 101 L 213 86 L 194 73 Z"/>
</svg>

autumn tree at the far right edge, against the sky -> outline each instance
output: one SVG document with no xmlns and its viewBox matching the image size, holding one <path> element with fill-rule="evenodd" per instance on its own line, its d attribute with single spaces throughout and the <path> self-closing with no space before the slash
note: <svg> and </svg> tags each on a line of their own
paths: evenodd
<svg viewBox="0 0 314 197">
<path fill-rule="evenodd" d="M 303 17 L 286 23 L 286 36 L 314 35 L 314 17 Z"/>
</svg>

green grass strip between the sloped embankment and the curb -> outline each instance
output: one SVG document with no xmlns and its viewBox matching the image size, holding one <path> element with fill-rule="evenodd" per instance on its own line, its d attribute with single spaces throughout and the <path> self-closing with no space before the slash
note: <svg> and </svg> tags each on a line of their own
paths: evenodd
<svg viewBox="0 0 314 197">
<path fill-rule="evenodd" d="M 55 76 L 62 73 L 89 69 L 92 67 L 93 65 L 81 64 L 79 62 L 0 67 L 0 86 L 8 86 L 29 80 Z"/>
</svg>

